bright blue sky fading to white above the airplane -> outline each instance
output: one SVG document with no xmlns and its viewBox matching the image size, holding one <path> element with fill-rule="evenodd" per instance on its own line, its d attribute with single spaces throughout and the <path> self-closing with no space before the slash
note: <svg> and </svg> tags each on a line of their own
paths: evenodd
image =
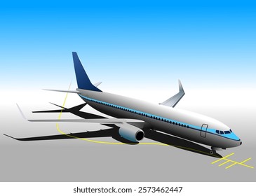
<svg viewBox="0 0 256 196">
<path fill-rule="evenodd" d="M 256 84 L 251 1 L 8 1 L 0 25 L 8 88 L 67 86 L 72 51 L 91 80 L 109 85 Z"/>
</svg>

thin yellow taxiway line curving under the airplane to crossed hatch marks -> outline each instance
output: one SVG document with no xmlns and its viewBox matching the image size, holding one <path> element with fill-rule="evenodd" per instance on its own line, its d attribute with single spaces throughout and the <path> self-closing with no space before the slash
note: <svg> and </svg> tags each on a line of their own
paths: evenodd
<svg viewBox="0 0 256 196">
<path fill-rule="evenodd" d="M 70 85 L 69 85 L 69 88 L 70 88 L 70 86 L 71 86 L 71 83 L 70 83 Z M 69 89 L 68 89 L 68 90 L 69 90 Z M 67 92 L 67 94 L 68 94 L 68 92 Z M 65 99 L 64 99 L 64 102 L 63 102 L 63 104 L 62 104 L 62 109 L 61 109 L 60 114 L 59 114 L 59 117 L 58 117 L 59 120 L 60 120 L 60 118 L 61 118 L 61 116 L 62 116 L 62 111 L 63 111 L 64 106 L 65 106 L 65 103 L 66 103 L 66 101 L 67 101 L 67 94 L 66 94 L 66 97 L 65 97 Z M 86 139 L 86 138 L 74 137 L 74 136 L 72 136 L 72 135 L 70 135 L 70 134 L 68 135 L 68 134 L 66 134 L 65 132 L 62 132 L 62 130 L 60 130 L 60 127 L 59 127 L 59 124 L 58 124 L 58 123 L 56 123 L 56 128 L 57 128 L 58 132 L 60 132 L 61 134 L 65 134 L 67 137 L 72 137 L 72 138 L 74 138 L 74 139 L 81 139 L 81 140 L 83 140 L 83 141 L 90 141 L 90 142 L 97 143 L 97 144 L 124 145 L 124 143 L 121 143 L 121 142 L 96 141 L 96 140 L 93 140 L 93 139 Z M 196 152 L 198 152 L 198 153 L 203 153 L 203 154 L 209 155 L 209 153 L 206 153 L 206 152 L 203 152 L 203 151 L 198 151 L 198 150 L 192 149 L 192 148 L 187 148 L 187 147 L 184 147 L 184 146 L 175 146 L 175 145 L 168 145 L 168 144 L 156 143 L 156 142 L 155 142 L 155 143 L 153 143 L 153 142 L 140 142 L 139 144 L 140 144 L 140 145 L 174 146 L 174 147 L 177 147 L 177 148 L 183 148 L 183 149 L 192 150 L 192 151 L 196 151 Z M 219 162 L 220 160 L 226 160 L 226 162 L 220 164 L 219 166 L 224 165 L 224 164 L 226 164 L 227 162 L 233 162 L 233 164 L 232 164 L 232 165 L 229 165 L 228 167 L 226 167 L 226 169 L 229 168 L 229 167 L 232 167 L 233 165 L 236 165 L 236 164 L 243 165 L 243 166 L 249 167 L 249 168 L 254 168 L 254 167 L 252 167 L 252 166 L 243 164 L 244 162 L 250 160 L 251 158 L 248 158 L 247 160 L 244 160 L 243 162 L 235 162 L 234 160 L 229 160 L 229 159 L 227 159 L 227 158 L 228 158 L 229 156 L 231 156 L 231 155 L 234 155 L 234 153 L 231 153 L 231 154 L 225 156 L 224 158 L 220 158 L 220 159 L 218 159 L 218 160 L 212 162 L 212 164 L 215 164 L 215 162 Z"/>
</svg>

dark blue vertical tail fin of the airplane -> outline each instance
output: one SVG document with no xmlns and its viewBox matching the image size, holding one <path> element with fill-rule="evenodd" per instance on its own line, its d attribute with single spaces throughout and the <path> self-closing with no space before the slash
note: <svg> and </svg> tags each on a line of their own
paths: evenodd
<svg viewBox="0 0 256 196">
<path fill-rule="evenodd" d="M 76 54 L 76 52 L 72 52 L 72 55 L 73 55 L 74 71 L 76 72 L 76 81 L 77 81 L 78 87 L 84 90 L 93 90 L 93 91 L 102 92 L 100 89 L 95 87 L 90 82 L 90 79 L 88 78 L 86 71 L 84 71 L 83 65 L 81 64 L 79 56 Z"/>
</svg>

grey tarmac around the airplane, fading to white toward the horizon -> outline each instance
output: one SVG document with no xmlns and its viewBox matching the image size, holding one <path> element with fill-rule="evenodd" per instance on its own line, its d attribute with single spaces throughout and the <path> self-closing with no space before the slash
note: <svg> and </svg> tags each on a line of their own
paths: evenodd
<svg viewBox="0 0 256 196">
<path fill-rule="evenodd" d="M 40 92 L 45 93 L 45 92 Z M 53 94 L 50 94 L 50 97 Z M 54 99 L 45 97 L 55 104 L 62 104 L 65 94 L 58 94 Z M 23 99 L 25 99 L 23 97 Z M 35 114 L 30 111 L 41 109 L 58 109 L 46 102 L 39 104 L 22 102 L 20 107 L 27 118 L 58 118 L 58 114 Z M 69 97 L 67 107 L 81 104 L 76 97 Z M 75 103 L 75 104 L 74 104 Z M 198 106 L 200 103 L 198 103 Z M 189 107 L 180 104 L 181 108 Z M 194 108 L 193 108 L 194 107 Z M 252 158 L 245 164 L 256 166 L 256 133 L 255 106 L 252 107 L 220 107 L 199 108 L 196 104 L 191 111 L 207 114 L 227 125 L 241 137 L 243 145 L 221 151 L 222 156 L 234 153 L 231 160 L 242 162 Z M 83 111 L 95 112 L 86 106 Z M 218 113 L 217 111 L 222 111 Z M 16 141 L 13 137 L 36 137 L 59 134 L 55 123 L 29 123 L 22 118 L 13 102 L 1 105 L 0 126 L 0 181 L 256 181 L 255 169 L 234 165 L 220 165 L 223 161 L 207 155 L 193 153 L 173 146 L 158 145 L 116 145 L 95 144 L 79 139 L 58 141 Z M 62 118 L 76 118 L 63 114 Z M 63 132 L 83 132 L 105 128 L 103 125 L 84 123 L 63 123 Z M 95 141 L 118 142 L 112 137 L 96 138 Z M 144 139 L 143 142 L 156 141 Z M 205 146 L 209 148 L 209 146 Z"/>
</svg>

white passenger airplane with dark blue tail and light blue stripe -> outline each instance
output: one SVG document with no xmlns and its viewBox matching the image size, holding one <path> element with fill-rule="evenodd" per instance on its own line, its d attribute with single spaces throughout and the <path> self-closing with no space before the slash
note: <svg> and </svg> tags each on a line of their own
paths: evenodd
<svg viewBox="0 0 256 196">
<path fill-rule="evenodd" d="M 239 139 L 227 125 L 224 125 L 224 123 L 221 123 L 220 121 L 208 116 L 175 108 L 176 104 L 180 102 L 180 99 L 182 99 L 185 94 L 180 80 L 178 81 L 179 92 L 177 94 L 161 104 L 152 104 L 138 99 L 102 92 L 102 90 L 97 87 L 100 85 L 100 83 L 93 85 L 90 82 L 90 79 L 88 78 L 88 75 L 81 64 L 77 53 L 72 52 L 72 56 L 78 88 L 76 88 L 76 90 L 53 91 L 78 94 L 79 97 L 83 99 L 85 104 L 81 104 L 72 109 L 66 109 L 60 106 L 62 110 L 55 110 L 52 112 L 71 112 L 82 117 L 83 119 L 39 119 L 28 121 L 100 123 L 110 127 L 108 132 L 117 130 L 121 138 L 135 143 L 142 141 L 145 131 L 160 131 L 181 139 L 211 146 L 211 149 L 209 150 L 210 155 L 216 154 L 216 151 L 222 151 L 222 149 L 232 148 L 242 144 L 241 139 Z M 86 104 L 91 106 L 93 109 L 114 118 L 105 118 L 92 113 L 79 113 L 79 110 Z M 22 113 L 19 106 L 18 108 Z M 22 116 L 25 118 L 23 113 Z M 69 134 L 69 136 L 70 135 L 76 135 L 79 137 L 83 136 L 83 133 Z M 91 135 L 91 137 L 93 137 L 93 134 Z M 11 138 L 17 139 L 14 137 Z M 46 137 L 22 138 L 17 140 L 35 141 L 41 139 L 67 139 L 67 137 L 63 135 L 54 135 Z"/>
</svg>

